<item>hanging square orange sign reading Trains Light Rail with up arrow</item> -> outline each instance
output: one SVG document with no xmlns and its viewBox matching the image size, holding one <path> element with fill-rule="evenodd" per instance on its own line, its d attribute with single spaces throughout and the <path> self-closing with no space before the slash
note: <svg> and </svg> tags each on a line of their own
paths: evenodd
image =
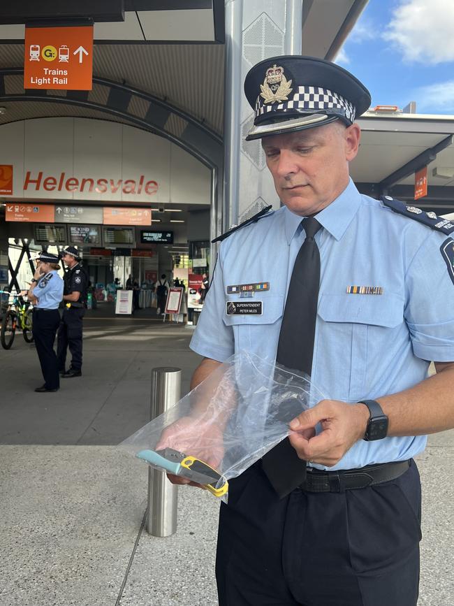
<svg viewBox="0 0 454 606">
<path fill-rule="evenodd" d="M 93 27 L 26 27 L 24 88 L 91 90 Z"/>
</svg>

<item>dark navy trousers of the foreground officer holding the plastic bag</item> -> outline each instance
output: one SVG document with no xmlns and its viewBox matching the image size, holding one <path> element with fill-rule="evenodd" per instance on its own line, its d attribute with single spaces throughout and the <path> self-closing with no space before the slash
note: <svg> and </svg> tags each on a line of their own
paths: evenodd
<svg viewBox="0 0 454 606">
<path fill-rule="evenodd" d="M 256 463 L 221 503 L 219 606 L 416 606 L 420 480 L 279 500 Z"/>
</svg>

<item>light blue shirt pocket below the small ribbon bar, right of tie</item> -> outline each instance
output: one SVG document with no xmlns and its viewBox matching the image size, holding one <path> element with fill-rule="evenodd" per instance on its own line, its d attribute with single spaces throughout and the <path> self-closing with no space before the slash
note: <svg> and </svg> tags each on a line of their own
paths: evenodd
<svg viewBox="0 0 454 606">
<path fill-rule="evenodd" d="M 358 400 L 368 392 L 367 370 L 381 366 L 393 338 L 404 321 L 404 300 L 396 294 L 322 294 L 318 316 L 318 356 L 323 367 L 336 374 L 336 396 Z M 328 366 L 327 366 L 328 364 Z"/>
</svg>

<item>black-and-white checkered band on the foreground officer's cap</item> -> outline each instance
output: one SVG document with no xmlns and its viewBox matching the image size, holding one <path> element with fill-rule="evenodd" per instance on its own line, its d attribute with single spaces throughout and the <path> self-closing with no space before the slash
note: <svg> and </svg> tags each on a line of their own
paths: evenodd
<svg viewBox="0 0 454 606">
<path fill-rule="evenodd" d="M 336 92 L 318 86 L 300 86 L 291 99 L 278 104 L 264 103 L 260 95 L 257 97 L 256 117 L 267 113 L 277 115 L 279 111 L 292 109 L 305 110 L 307 113 L 339 114 L 346 117 L 349 122 L 355 121 L 356 109 L 353 103 Z"/>
</svg>

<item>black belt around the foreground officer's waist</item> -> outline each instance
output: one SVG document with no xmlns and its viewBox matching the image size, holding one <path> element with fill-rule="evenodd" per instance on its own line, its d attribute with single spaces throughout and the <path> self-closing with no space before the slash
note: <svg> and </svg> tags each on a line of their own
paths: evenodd
<svg viewBox="0 0 454 606">
<path fill-rule="evenodd" d="M 409 466 L 410 460 L 339 471 L 322 471 L 308 467 L 305 482 L 299 487 L 307 492 L 344 492 L 345 490 L 366 488 L 366 486 L 374 486 L 374 484 L 396 479 L 406 472 Z"/>
</svg>

